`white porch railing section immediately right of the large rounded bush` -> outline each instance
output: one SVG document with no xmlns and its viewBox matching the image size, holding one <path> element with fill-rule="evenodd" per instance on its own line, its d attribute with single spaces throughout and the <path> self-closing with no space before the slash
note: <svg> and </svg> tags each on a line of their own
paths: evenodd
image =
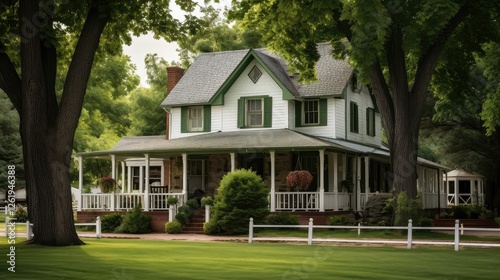
<svg viewBox="0 0 500 280">
<path fill-rule="evenodd" d="M 279 192 L 276 193 L 276 210 L 318 210 L 317 192 Z"/>
</svg>

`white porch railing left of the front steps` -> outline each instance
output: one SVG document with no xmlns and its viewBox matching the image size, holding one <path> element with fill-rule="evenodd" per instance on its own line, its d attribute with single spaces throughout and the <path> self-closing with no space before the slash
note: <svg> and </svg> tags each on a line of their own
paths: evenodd
<svg viewBox="0 0 500 280">
<path fill-rule="evenodd" d="M 182 193 L 150 193 L 146 209 L 144 193 L 84 193 L 81 194 L 82 210 L 130 210 L 139 203 L 144 210 L 168 210 L 167 199 L 177 197 L 183 204 Z"/>
</svg>

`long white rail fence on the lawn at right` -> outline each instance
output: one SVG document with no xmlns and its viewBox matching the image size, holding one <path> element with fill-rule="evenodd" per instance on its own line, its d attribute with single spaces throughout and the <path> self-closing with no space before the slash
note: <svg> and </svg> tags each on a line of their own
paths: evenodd
<svg viewBox="0 0 500 280">
<path fill-rule="evenodd" d="M 307 228 L 308 235 L 307 238 L 279 238 L 279 237 L 253 237 L 254 228 Z M 373 229 L 385 229 L 385 230 L 406 230 L 407 240 L 365 240 L 365 239 L 329 239 L 329 238 L 313 238 L 313 231 L 315 228 L 326 228 L 326 229 L 357 229 L 358 235 L 361 234 L 361 230 L 373 230 Z M 430 241 L 430 240 L 413 240 L 413 230 L 443 230 L 443 231 L 454 231 L 454 241 Z M 307 244 L 312 245 L 313 242 L 337 242 L 337 243 L 371 243 L 371 244 L 406 244 L 408 249 L 412 248 L 412 245 L 453 245 L 455 251 L 458 251 L 460 246 L 476 246 L 476 247 L 500 247 L 500 243 L 476 243 L 476 242 L 460 242 L 460 235 L 464 231 L 496 231 L 500 232 L 500 228 L 464 228 L 459 226 L 459 220 L 455 220 L 455 227 L 414 227 L 412 220 L 408 220 L 408 226 L 362 226 L 358 224 L 357 226 L 323 226 L 314 225 L 313 219 L 309 219 L 308 225 L 255 225 L 253 223 L 253 218 L 250 218 L 249 230 L 248 230 L 248 243 L 253 243 L 253 241 L 289 241 L 289 242 L 303 242 L 307 241 Z"/>
</svg>

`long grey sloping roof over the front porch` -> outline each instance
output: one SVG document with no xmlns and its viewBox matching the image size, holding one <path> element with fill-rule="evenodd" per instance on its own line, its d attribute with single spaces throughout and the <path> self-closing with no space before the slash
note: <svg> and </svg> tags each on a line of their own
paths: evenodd
<svg viewBox="0 0 500 280">
<path fill-rule="evenodd" d="M 354 149 L 327 142 L 316 137 L 288 129 L 244 130 L 213 132 L 165 140 L 165 136 L 123 137 L 110 150 L 80 153 L 83 157 L 178 155 L 181 153 L 204 154 L 214 152 L 251 153 L 256 151 L 338 150 L 357 152 Z"/>
</svg>

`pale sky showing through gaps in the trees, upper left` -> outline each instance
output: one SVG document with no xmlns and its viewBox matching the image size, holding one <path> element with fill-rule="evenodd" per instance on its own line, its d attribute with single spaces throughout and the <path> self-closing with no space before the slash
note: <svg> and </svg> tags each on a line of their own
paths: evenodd
<svg viewBox="0 0 500 280">
<path fill-rule="evenodd" d="M 204 0 L 198 0 L 198 2 L 203 5 Z M 219 3 L 211 3 L 211 5 L 223 10 L 225 6 L 231 5 L 231 0 L 220 0 Z M 172 7 L 172 14 L 179 20 L 183 18 L 183 12 L 178 7 Z M 146 54 L 156 53 L 158 57 L 170 63 L 172 61 L 179 61 L 177 48 L 179 48 L 179 45 L 176 42 L 168 43 L 165 40 L 156 40 L 153 38 L 153 34 L 149 33 L 140 37 L 133 37 L 132 44 L 130 46 L 123 46 L 123 51 L 126 55 L 130 56 L 130 60 L 135 64 L 136 74 L 141 77 L 141 86 L 149 87 L 146 83 L 147 76 L 144 64 Z"/>
</svg>

